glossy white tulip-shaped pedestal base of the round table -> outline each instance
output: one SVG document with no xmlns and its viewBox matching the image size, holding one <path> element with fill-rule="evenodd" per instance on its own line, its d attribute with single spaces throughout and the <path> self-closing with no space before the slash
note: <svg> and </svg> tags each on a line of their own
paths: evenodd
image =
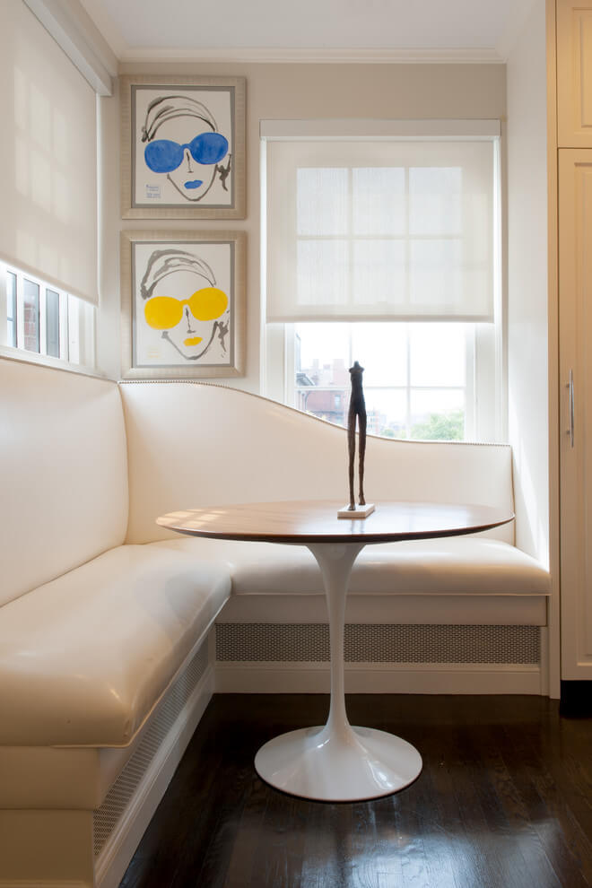
<svg viewBox="0 0 592 888">
<path fill-rule="evenodd" d="M 345 713 L 345 598 L 362 548 L 358 543 L 309 544 L 323 573 L 329 612 L 329 716 L 324 727 L 274 737 L 255 757 L 259 777 L 292 796 L 326 802 L 379 798 L 409 786 L 422 770 L 422 756 L 406 740 L 370 727 L 351 727 Z"/>
</svg>

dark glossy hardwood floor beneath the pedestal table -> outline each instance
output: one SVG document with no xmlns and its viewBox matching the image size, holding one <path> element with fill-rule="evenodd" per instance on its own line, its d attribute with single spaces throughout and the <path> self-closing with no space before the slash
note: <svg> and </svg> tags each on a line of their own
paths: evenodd
<svg viewBox="0 0 592 888">
<path fill-rule="evenodd" d="M 352 724 L 405 737 L 419 779 L 372 802 L 277 792 L 266 740 L 325 721 L 324 695 L 220 694 L 121 888 L 592 886 L 592 718 L 527 696 L 348 695 Z"/>
</svg>

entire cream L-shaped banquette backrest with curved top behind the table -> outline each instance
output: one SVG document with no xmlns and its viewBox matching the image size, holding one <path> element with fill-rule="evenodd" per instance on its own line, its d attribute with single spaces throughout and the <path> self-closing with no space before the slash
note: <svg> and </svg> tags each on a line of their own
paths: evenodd
<svg viewBox="0 0 592 888">
<path fill-rule="evenodd" d="M 0 403 L 0 605 L 113 546 L 166 538 L 164 512 L 347 498 L 344 429 L 237 389 L 118 386 L 0 358 Z M 369 501 L 512 509 L 506 445 L 369 438 L 366 468 Z M 513 542 L 511 524 L 489 533 Z"/>
</svg>

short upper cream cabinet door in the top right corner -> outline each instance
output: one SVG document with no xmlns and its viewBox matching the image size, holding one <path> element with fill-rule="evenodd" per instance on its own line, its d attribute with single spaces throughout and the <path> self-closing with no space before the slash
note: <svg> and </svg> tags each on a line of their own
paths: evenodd
<svg viewBox="0 0 592 888">
<path fill-rule="evenodd" d="M 560 148 L 592 148 L 592 0 L 557 0 Z"/>
</svg>

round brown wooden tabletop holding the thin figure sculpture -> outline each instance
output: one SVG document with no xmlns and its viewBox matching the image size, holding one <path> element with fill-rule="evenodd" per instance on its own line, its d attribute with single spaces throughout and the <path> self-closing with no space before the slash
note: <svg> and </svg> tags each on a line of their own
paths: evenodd
<svg viewBox="0 0 592 888">
<path fill-rule="evenodd" d="M 337 518 L 344 502 L 249 502 L 170 512 L 157 524 L 190 536 L 267 543 L 389 543 L 473 534 L 506 524 L 507 509 L 440 502 L 377 502 L 368 518 Z"/>
</svg>

